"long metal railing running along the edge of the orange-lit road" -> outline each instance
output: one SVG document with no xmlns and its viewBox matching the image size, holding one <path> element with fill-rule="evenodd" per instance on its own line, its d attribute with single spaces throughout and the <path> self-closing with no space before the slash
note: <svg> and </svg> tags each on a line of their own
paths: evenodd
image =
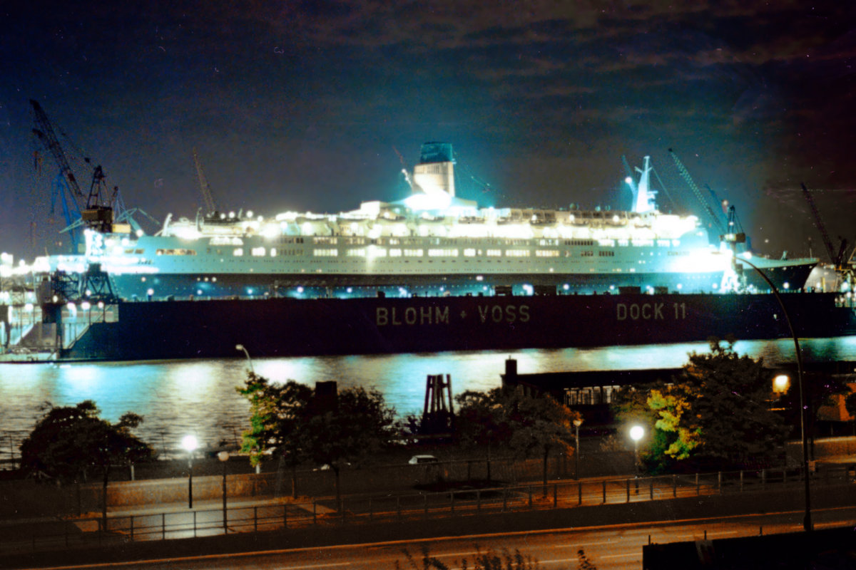
<svg viewBox="0 0 856 570">
<path fill-rule="evenodd" d="M 811 484 L 853 484 L 856 470 L 830 467 L 814 473 Z M 443 492 L 326 497 L 312 502 L 265 501 L 249 507 L 211 508 L 107 519 L 68 519 L 27 538 L 0 538 L 0 553 L 71 549 L 106 544 L 197 538 L 240 532 L 322 528 L 405 520 L 438 520 L 474 514 L 532 509 L 574 508 L 678 497 L 801 489 L 799 468 L 663 475 L 645 478 L 552 481 L 495 488 L 456 488 Z M 57 527 L 59 525 L 59 527 Z"/>
</svg>

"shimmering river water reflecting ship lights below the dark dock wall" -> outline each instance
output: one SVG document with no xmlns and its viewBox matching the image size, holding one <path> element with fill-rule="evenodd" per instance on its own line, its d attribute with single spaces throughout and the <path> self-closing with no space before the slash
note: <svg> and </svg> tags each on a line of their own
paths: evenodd
<svg viewBox="0 0 856 570">
<path fill-rule="evenodd" d="M 803 359 L 856 361 L 856 337 L 806 339 Z M 794 362 L 793 340 L 740 341 L 739 354 L 768 364 Z M 336 380 L 340 387 L 373 386 L 400 415 L 421 413 L 425 376 L 449 373 L 452 393 L 490 390 L 510 356 L 519 373 L 681 367 L 706 343 L 595 349 L 443 352 L 383 356 L 322 356 L 253 359 L 256 373 L 272 381 L 306 385 Z M 248 423 L 248 404 L 235 391 L 246 379 L 246 358 L 211 361 L 146 361 L 73 364 L 0 364 L 0 458 L 17 455 L 21 439 L 43 414 L 44 403 L 69 406 L 93 400 L 101 417 L 116 421 L 132 411 L 145 421 L 140 437 L 161 452 L 174 450 L 193 433 L 204 446 L 235 443 Z"/>
</svg>

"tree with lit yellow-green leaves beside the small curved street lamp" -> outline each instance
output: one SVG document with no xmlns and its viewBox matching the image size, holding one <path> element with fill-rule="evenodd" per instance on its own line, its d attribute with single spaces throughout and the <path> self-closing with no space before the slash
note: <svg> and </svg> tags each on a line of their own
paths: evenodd
<svg viewBox="0 0 856 570">
<path fill-rule="evenodd" d="M 276 454 L 280 462 L 287 463 L 291 467 L 291 494 L 297 497 L 297 466 L 306 459 L 298 431 L 312 400 L 312 388 L 294 380 L 272 385 L 250 371 L 244 385 L 236 390 L 250 403 L 250 429 L 241 433 L 241 451 L 250 455 L 253 467 L 267 453 Z"/>
</svg>

